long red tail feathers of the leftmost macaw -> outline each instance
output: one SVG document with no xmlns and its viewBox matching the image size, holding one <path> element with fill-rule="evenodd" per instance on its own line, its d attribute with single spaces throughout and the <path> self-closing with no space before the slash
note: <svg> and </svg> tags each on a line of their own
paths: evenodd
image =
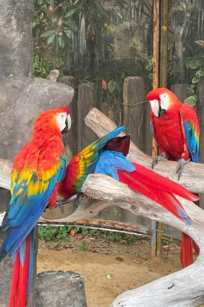
<svg viewBox="0 0 204 307">
<path fill-rule="evenodd" d="M 26 307 L 27 305 L 30 245 L 31 237 L 29 235 L 25 239 L 25 258 L 23 266 L 20 263 L 19 250 L 17 250 L 11 281 L 9 307 Z"/>
</svg>

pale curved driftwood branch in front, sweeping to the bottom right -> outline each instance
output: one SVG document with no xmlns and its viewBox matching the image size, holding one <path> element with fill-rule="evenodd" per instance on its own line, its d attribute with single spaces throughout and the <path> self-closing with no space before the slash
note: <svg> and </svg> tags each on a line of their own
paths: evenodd
<svg viewBox="0 0 204 307">
<path fill-rule="evenodd" d="M 111 304 L 111 307 L 135 307 L 136 305 L 137 307 L 193 307 L 199 306 L 204 301 L 202 286 L 204 280 L 203 210 L 192 202 L 179 198 L 193 220 L 192 225 L 186 225 L 160 205 L 129 189 L 127 185 L 99 174 L 89 175 L 82 191 L 92 198 L 110 200 L 112 204 L 128 209 L 133 214 L 147 216 L 179 228 L 188 233 L 200 249 L 200 255 L 193 265 L 152 281 L 138 289 L 120 294 Z"/>
</svg>

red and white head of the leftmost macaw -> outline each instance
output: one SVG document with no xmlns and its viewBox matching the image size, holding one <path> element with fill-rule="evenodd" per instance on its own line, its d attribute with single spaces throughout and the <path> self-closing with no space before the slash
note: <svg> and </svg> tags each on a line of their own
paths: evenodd
<svg viewBox="0 0 204 307">
<path fill-rule="evenodd" d="M 49 134 L 64 134 L 71 127 L 71 117 L 67 107 L 56 107 L 41 113 L 34 122 L 34 135 L 42 131 Z"/>
</svg>

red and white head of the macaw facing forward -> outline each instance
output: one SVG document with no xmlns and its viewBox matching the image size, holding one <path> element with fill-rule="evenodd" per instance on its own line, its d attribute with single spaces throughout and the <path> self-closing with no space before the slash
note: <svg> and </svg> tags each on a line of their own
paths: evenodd
<svg viewBox="0 0 204 307">
<path fill-rule="evenodd" d="M 147 94 L 147 101 L 150 102 L 152 113 L 156 117 L 161 117 L 166 111 L 175 106 L 179 100 L 171 91 L 160 87 Z"/>
</svg>

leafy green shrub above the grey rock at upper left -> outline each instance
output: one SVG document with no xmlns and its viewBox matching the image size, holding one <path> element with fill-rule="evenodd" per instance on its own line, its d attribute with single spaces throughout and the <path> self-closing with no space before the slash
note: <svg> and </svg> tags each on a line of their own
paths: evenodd
<svg viewBox="0 0 204 307">
<path fill-rule="evenodd" d="M 33 15 L 34 65 L 33 75 L 46 77 L 52 69 L 62 70 L 64 53 L 78 31 L 78 14 L 70 1 L 36 0 Z"/>
</svg>

